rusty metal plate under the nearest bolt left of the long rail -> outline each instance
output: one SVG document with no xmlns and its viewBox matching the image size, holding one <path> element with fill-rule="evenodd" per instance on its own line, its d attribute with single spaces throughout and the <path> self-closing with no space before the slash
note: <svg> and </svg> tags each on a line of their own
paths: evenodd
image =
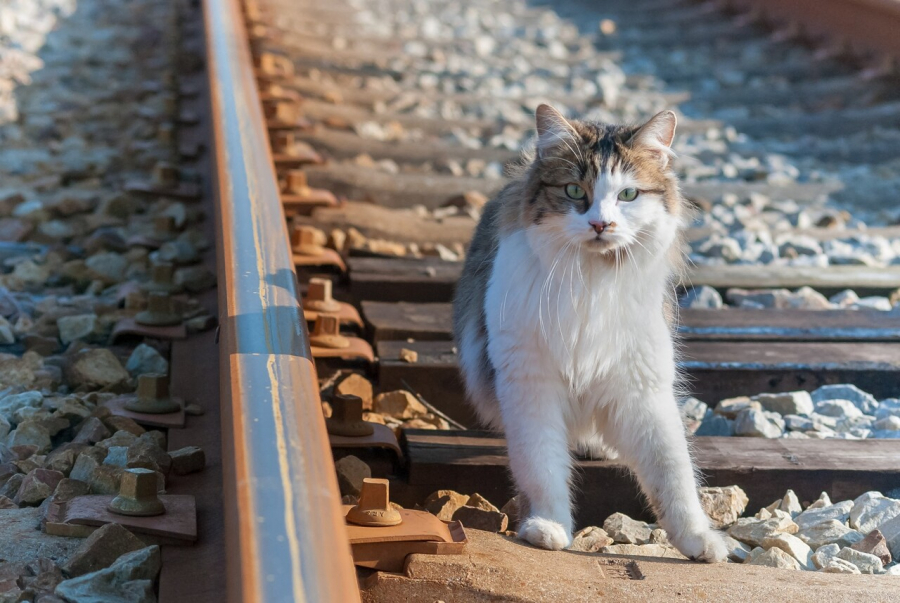
<svg viewBox="0 0 900 603">
<path fill-rule="evenodd" d="M 65 526 L 99 527 L 117 523 L 136 534 L 149 534 L 171 539 L 173 542 L 189 544 L 197 540 L 197 506 L 194 497 L 186 494 L 167 495 L 159 498 L 166 507 L 164 515 L 155 517 L 133 517 L 118 515 L 106 510 L 115 496 L 76 496 L 70 501 L 51 506 L 47 511 L 45 528 L 48 534 L 66 531 Z M 62 524 L 62 525 L 57 525 Z"/>
</svg>

